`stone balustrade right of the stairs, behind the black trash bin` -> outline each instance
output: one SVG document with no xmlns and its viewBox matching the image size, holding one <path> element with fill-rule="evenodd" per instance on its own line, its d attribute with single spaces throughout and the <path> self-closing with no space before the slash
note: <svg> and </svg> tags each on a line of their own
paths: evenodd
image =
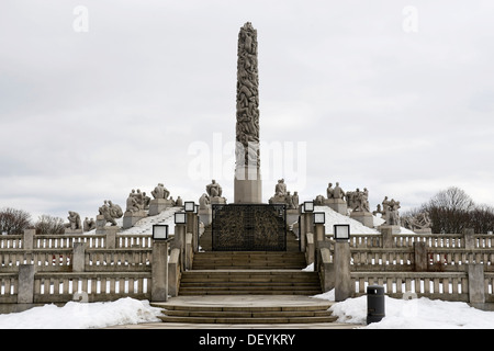
<svg viewBox="0 0 494 351">
<path fill-rule="evenodd" d="M 312 234 L 307 233 L 308 242 Z M 494 248 L 491 235 L 352 235 L 341 242 L 325 236 L 315 248 L 324 291 L 337 301 L 382 285 L 392 297 L 409 296 L 494 303 Z M 302 240 L 302 238 L 301 238 Z M 306 253 L 306 257 L 311 254 Z"/>
</svg>

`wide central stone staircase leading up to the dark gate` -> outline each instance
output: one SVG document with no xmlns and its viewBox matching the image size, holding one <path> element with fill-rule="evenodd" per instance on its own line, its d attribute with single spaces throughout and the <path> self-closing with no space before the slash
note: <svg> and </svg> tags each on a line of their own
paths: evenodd
<svg viewBox="0 0 494 351">
<path fill-rule="evenodd" d="M 293 233 L 288 251 L 207 251 L 205 228 L 192 269 L 182 272 L 179 296 L 164 304 L 165 322 L 310 324 L 333 322 L 332 303 L 321 294 L 317 272 L 303 271 L 305 256 Z"/>
</svg>

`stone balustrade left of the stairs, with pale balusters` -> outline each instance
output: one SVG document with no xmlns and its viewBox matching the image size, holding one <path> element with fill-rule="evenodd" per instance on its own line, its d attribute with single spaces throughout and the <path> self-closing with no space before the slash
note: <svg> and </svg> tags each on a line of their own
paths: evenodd
<svg viewBox="0 0 494 351">
<path fill-rule="evenodd" d="M 189 217 L 195 223 L 197 215 Z M 198 248 L 199 226 L 190 227 L 193 233 L 177 225 L 173 237 L 159 241 L 113 230 L 38 236 L 29 229 L 0 236 L 0 313 L 44 303 L 177 296 L 181 272 Z"/>
</svg>

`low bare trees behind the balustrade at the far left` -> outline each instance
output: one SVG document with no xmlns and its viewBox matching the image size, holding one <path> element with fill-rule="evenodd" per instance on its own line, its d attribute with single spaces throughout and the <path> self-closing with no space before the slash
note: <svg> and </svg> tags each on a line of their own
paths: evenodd
<svg viewBox="0 0 494 351">
<path fill-rule="evenodd" d="M 64 219 L 50 215 L 41 215 L 32 220 L 31 214 L 23 210 L 4 207 L 0 210 L 0 234 L 20 235 L 24 229 L 34 228 L 36 234 L 64 234 Z"/>
</svg>

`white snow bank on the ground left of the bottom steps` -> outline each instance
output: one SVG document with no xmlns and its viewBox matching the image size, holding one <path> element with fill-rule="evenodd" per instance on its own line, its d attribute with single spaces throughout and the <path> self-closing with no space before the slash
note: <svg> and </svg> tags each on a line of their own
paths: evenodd
<svg viewBox="0 0 494 351">
<path fill-rule="evenodd" d="M 0 329 L 89 329 L 159 321 L 161 309 L 131 297 L 111 303 L 69 302 L 0 315 Z"/>
</svg>

